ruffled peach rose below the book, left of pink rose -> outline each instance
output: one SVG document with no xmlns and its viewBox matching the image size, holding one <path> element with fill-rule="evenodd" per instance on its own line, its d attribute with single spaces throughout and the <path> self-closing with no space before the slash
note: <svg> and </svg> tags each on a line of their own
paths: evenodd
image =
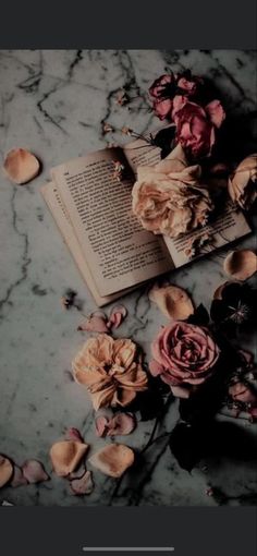
<svg viewBox="0 0 257 556">
<path fill-rule="evenodd" d="M 72 363 L 74 378 L 87 387 L 95 410 L 125 407 L 136 392 L 147 389 L 147 375 L 138 361 L 136 345 L 107 334 L 89 338 Z"/>
</svg>

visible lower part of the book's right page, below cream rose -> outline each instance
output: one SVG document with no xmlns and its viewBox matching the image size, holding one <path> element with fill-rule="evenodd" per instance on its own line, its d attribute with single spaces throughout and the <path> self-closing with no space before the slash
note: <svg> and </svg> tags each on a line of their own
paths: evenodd
<svg viewBox="0 0 257 556">
<path fill-rule="evenodd" d="M 208 226 L 173 240 L 163 237 L 163 240 L 175 267 L 180 267 L 250 231 L 243 213 L 231 201 L 227 201 L 225 206 Z"/>
</svg>

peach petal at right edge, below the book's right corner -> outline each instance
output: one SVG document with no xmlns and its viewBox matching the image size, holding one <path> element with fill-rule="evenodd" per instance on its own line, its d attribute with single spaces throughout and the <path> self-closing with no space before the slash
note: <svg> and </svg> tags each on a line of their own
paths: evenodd
<svg viewBox="0 0 257 556">
<path fill-rule="evenodd" d="M 257 257 L 253 251 L 232 251 L 224 259 L 224 271 L 235 280 L 247 280 L 257 270 Z"/>
</svg>

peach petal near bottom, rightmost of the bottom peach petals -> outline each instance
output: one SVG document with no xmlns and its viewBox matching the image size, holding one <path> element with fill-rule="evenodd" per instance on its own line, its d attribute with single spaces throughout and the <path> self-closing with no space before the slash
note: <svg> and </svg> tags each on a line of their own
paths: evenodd
<svg viewBox="0 0 257 556">
<path fill-rule="evenodd" d="M 110 444 L 91 456 L 89 462 L 108 476 L 119 478 L 134 463 L 134 451 L 123 444 Z"/>
</svg>

